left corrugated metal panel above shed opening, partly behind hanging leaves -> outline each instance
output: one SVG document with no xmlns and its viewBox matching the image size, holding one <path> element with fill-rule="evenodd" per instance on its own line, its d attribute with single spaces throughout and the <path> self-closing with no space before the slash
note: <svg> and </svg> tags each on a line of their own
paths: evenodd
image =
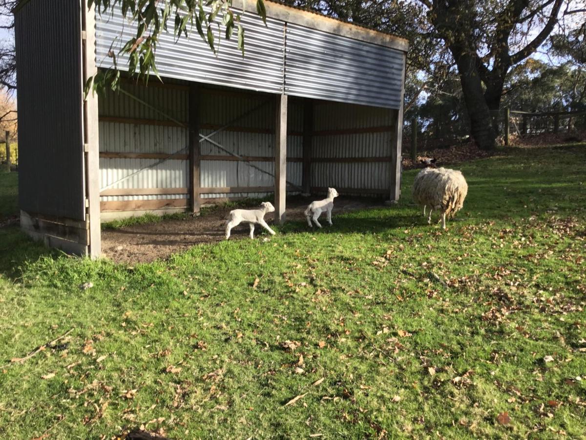
<svg viewBox="0 0 586 440">
<path fill-rule="evenodd" d="M 111 67 L 108 51 L 116 53 L 136 35 L 136 25 L 128 23 L 118 6 L 108 16 L 96 16 L 97 65 Z M 284 23 L 267 18 L 267 25 L 258 15 L 244 14 L 241 23 L 246 29 L 246 56 L 237 48 L 236 36 L 219 43 L 219 52 L 212 50 L 193 30 L 189 39 L 175 39 L 173 32 L 162 33 L 156 49 L 157 69 L 161 76 L 239 89 L 280 93 L 283 85 Z M 169 26 L 172 29 L 172 26 Z M 112 46 L 114 43 L 114 46 Z M 127 57 L 118 60 L 127 65 Z"/>
</svg>

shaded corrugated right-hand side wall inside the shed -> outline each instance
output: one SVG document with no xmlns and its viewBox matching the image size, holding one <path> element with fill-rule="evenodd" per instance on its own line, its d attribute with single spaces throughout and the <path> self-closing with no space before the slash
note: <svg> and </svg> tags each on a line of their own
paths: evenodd
<svg viewBox="0 0 586 440">
<path fill-rule="evenodd" d="M 312 187 L 335 187 L 355 195 L 389 194 L 393 113 L 356 104 L 317 103 Z"/>
</svg>

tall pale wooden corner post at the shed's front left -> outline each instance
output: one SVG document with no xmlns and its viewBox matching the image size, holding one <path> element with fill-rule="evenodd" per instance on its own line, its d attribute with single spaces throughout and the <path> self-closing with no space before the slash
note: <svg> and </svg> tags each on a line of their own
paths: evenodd
<svg viewBox="0 0 586 440">
<path fill-rule="evenodd" d="M 87 1 L 81 2 L 81 30 L 85 31 L 86 39 L 82 40 L 83 82 L 98 73 L 96 66 L 96 13 L 94 6 L 88 10 Z M 98 127 L 98 95 L 87 94 L 83 103 L 83 140 L 82 147 L 86 151 L 86 197 L 88 201 L 86 221 L 89 223 L 88 253 L 97 258 L 101 253 L 100 225 L 100 130 Z"/>
</svg>

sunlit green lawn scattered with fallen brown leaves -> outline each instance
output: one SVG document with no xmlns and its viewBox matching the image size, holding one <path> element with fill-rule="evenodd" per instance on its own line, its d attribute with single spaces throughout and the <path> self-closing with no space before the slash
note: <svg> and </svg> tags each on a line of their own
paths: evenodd
<svg viewBox="0 0 586 440">
<path fill-rule="evenodd" d="M 396 206 L 142 265 L 0 229 L 0 438 L 584 438 L 584 163 L 459 165 L 447 231 L 415 171 Z"/>
</svg>

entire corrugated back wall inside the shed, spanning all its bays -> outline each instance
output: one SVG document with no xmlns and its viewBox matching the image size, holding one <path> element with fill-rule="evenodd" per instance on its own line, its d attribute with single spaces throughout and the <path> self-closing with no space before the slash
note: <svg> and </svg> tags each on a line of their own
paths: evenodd
<svg viewBox="0 0 586 440">
<path fill-rule="evenodd" d="M 185 199 L 189 178 L 189 86 L 171 83 L 142 86 L 122 83 L 123 93 L 108 92 L 100 99 L 100 171 L 102 202 Z M 200 144 L 200 197 L 265 197 L 274 187 L 275 99 L 264 93 L 200 87 L 200 133 L 209 136 Z M 156 111 L 144 103 L 159 109 Z M 301 185 L 301 103 L 289 105 L 287 180 Z M 176 122 L 170 121 L 171 116 Z M 178 124 L 179 123 L 179 124 Z M 218 147 L 216 144 L 220 144 Z M 230 154 L 232 153 L 232 154 Z M 250 161 L 235 160 L 234 154 Z M 145 155 L 147 157 L 145 157 Z M 173 155 L 169 158 L 169 155 Z M 151 158 L 152 157 L 152 158 Z M 258 160 L 254 160 L 258 158 Z M 264 171 L 264 172 L 263 172 Z M 219 192 L 218 188 L 258 188 L 255 192 Z M 145 194 L 145 189 L 177 188 L 177 194 Z M 211 188 L 211 192 L 206 192 Z M 132 189 L 142 195 L 129 195 Z M 294 190 L 293 188 L 292 190 Z M 107 195 L 125 191 L 125 195 Z M 103 204 L 104 211 L 131 210 L 132 205 Z M 152 205 L 150 205 L 152 206 Z M 172 208 L 183 207 L 173 204 Z M 135 208 L 141 209 L 142 208 Z M 154 208 L 155 209 L 155 208 Z"/>
</svg>

